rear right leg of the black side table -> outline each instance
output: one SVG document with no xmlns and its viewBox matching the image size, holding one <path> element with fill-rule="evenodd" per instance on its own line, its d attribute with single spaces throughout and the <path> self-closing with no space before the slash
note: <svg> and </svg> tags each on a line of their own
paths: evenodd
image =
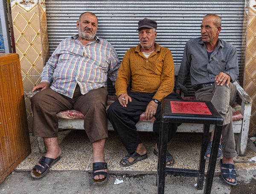
<svg viewBox="0 0 256 194">
<path fill-rule="evenodd" d="M 204 160 L 204 154 L 207 149 L 207 143 L 209 138 L 209 128 L 210 128 L 210 125 L 204 125 L 201 154 L 200 154 L 200 161 L 199 161 L 198 181 L 197 181 L 197 189 L 200 189 L 200 190 L 203 189 L 203 185 L 204 185 L 204 169 L 205 169 L 205 162 L 206 162 Z"/>
</svg>

